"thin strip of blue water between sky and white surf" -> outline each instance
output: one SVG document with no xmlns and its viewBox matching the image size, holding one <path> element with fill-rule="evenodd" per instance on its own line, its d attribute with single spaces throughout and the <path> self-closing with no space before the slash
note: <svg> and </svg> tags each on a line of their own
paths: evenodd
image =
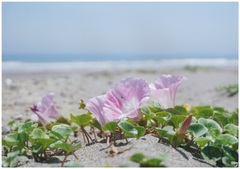
<svg viewBox="0 0 240 169">
<path fill-rule="evenodd" d="M 161 61 L 174 59 L 238 60 L 236 55 L 169 55 L 169 54 L 3 54 L 2 61 L 16 62 L 82 62 L 82 61 Z"/>
</svg>

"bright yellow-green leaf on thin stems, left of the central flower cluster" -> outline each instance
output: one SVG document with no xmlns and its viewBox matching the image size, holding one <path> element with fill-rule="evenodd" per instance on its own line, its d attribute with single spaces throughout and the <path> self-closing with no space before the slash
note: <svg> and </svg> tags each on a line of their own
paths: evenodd
<svg viewBox="0 0 240 169">
<path fill-rule="evenodd" d="M 72 122 L 80 125 L 80 126 L 87 126 L 89 125 L 90 121 L 92 120 L 92 116 L 91 114 L 81 114 L 81 115 L 77 115 L 77 116 L 73 116 L 72 114 L 70 114 L 70 119 Z"/>
</svg>

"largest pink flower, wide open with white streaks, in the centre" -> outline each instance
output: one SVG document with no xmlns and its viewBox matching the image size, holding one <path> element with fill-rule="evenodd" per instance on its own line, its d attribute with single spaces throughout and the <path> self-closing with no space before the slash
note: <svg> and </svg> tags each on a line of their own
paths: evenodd
<svg viewBox="0 0 240 169">
<path fill-rule="evenodd" d="M 117 83 L 106 94 L 103 107 L 108 121 L 117 121 L 123 118 L 140 120 L 140 107 L 149 99 L 148 83 L 140 78 L 126 78 Z"/>
</svg>

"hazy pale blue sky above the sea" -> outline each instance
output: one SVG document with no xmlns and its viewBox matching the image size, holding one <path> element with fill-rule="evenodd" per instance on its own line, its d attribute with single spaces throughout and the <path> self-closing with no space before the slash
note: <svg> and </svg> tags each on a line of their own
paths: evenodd
<svg viewBox="0 0 240 169">
<path fill-rule="evenodd" d="M 235 56 L 237 2 L 3 2 L 4 54 Z"/>
</svg>

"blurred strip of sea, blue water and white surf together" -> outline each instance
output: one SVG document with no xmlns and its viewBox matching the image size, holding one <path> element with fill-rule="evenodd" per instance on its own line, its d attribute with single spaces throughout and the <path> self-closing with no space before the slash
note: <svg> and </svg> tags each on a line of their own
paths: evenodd
<svg viewBox="0 0 240 169">
<path fill-rule="evenodd" d="M 238 56 L 2 55 L 2 72 L 159 70 L 185 66 L 238 66 Z"/>
</svg>

